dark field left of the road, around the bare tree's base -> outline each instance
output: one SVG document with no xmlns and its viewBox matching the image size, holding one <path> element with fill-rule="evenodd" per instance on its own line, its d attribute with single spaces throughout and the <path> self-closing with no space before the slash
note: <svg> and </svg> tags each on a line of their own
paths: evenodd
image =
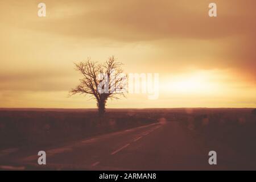
<svg viewBox="0 0 256 182">
<path fill-rule="evenodd" d="M 49 146 L 156 122 L 159 113 L 110 110 L 103 121 L 95 109 L 0 110 L 0 148 Z"/>
</svg>

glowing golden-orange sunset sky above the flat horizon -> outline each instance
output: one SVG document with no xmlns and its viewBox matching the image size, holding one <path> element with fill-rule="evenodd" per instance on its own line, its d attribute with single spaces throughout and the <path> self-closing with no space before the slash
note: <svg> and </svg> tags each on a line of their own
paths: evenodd
<svg viewBox="0 0 256 182">
<path fill-rule="evenodd" d="M 46 4 L 46 17 L 38 4 Z M 217 17 L 209 17 L 209 3 Z M 107 107 L 256 107 L 253 0 L 0 1 L 0 107 L 94 108 L 68 97 L 74 63 L 114 55 L 125 73 L 158 73 L 159 97 Z"/>
</svg>

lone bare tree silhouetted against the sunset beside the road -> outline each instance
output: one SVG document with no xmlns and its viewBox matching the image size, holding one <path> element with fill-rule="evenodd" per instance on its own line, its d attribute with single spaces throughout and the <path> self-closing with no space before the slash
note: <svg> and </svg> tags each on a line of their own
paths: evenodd
<svg viewBox="0 0 256 182">
<path fill-rule="evenodd" d="M 70 94 L 80 93 L 92 97 L 97 101 L 98 114 L 102 117 L 109 98 L 119 99 L 119 96 L 125 96 L 122 90 L 126 78 L 123 76 L 121 65 L 122 63 L 117 62 L 114 56 L 104 64 L 90 59 L 75 63 L 76 70 L 82 74 L 82 78 Z"/>
</svg>

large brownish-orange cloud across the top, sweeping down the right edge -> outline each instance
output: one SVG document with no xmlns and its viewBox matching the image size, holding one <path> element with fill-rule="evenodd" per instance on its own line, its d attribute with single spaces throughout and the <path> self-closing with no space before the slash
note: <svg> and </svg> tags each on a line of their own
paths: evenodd
<svg viewBox="0 0 256 182">
<path fill-rule="evenodd" d="M 208 16 L 210 2 L 212 1 L 46 2 L 49 16 L 40 21 L 28 21 L 26 27 L 78 41 L 95 40 L 99 44 L 102 40 L 127 44 L 148 42 L 152 45 L 160 42 L 160 47 L 166 46 L 163 49 L 167 51 L 168 46 L 175 47 L 172 42 L 182 42 L 183 46 L 172 49 L 182 52 L 181 57 L 188 57 L 187 60 L 178 58 L 184 65 L 231 68 L 249 72 L 256 77 L 256 12 L 253 9 L 256 2 L 216 0 L 216 18 Z M 201 44 L 201 41 L 205 43 Z M 195 53 L 190 53 L 195 49 L 202 51 L 197 51 L 195 56 Z M 167 57 L 172 60 L 171 55 Z M 201 60 L 201 57 L 206 58 Z"/>
</svg>

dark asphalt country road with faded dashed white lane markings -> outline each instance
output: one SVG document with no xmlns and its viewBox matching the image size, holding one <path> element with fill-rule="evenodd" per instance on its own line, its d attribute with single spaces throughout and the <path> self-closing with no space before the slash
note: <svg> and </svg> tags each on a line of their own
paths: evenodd
<svg viewBox="0 0 256 182">
<path fill-rule="evenodd" d="M 40 150 L 46 151 L 45 166 L 38 164 L 38 151 L 20 151 L 0 153 L 1 168 L 12 169 L 7 164 L 14 164 L 17 169 L 84 170 L 225 170 L 238 167 L 238 162 L 233 160 L 237 156 L 223 148 L 216 148 L 217 154 L 220 153 L 218 163 L 210 166 L 208 152 L 214 148 L 195 139 L 179 122 L 154 123 Z"/>
</svg>

